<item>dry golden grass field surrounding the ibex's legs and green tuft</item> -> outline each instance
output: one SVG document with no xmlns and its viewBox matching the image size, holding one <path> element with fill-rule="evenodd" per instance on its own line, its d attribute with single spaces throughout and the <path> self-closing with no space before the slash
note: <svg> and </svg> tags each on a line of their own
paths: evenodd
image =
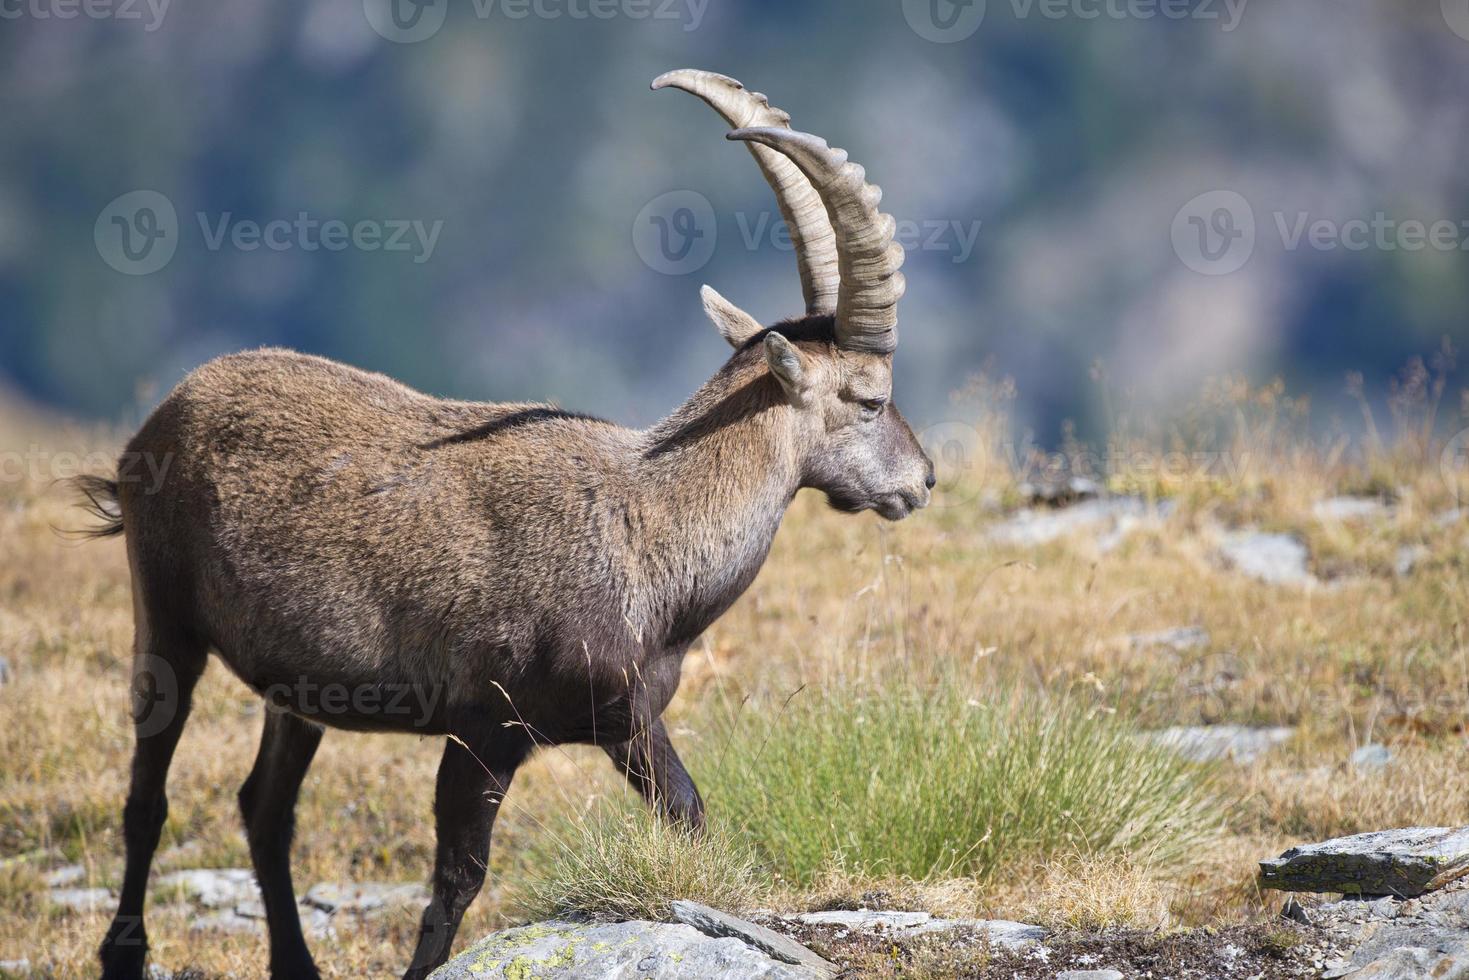
<svg viewBox="0 0 1469 980">
<path fill-rule="evenodd" d="M 802 494 L 755 585 L 689 655 L 670 727 L 696 780 L 730 764 L 721 758 L 737 738 L 732 713 L 780 726 L 780 705 L 802 685 L 798 696 L 833 685 L 887 696 L 942 679 L 980 708 L 996 691 L 1024 691 L 1146 729 L 1240 723 L 1296 735 L 1255 764 L 1210 767 L 1210 826 L 1184 858 L 1119 854 L 1084 833 L 1064 851 L 1011 851 L 997 821 L 972 829 L 997 855 L 983 876 L 884 880 L 833 861 L 817 879 L 759 877 L 751 901 L 798 908 L 881 889 L 909 907 L 1059 927 L 1240 923 L 1272 912 L 1278 899 L 1256 887 L 1255 862 L 1291 843 L 1469 823 L 1469 519 L 1444 517 L 1469 483 L 1443 463 L 1444 439 L 1465 422 L 1441 391 L 1432 376 L 1404 375 L 1391 411 L 1360 423 L 1378 429 L 1363 439 L 1321 435 L 1278 386 L 1243 382 L 1212 385 L 1174 420 L 1143 425 L 1116 410 L 1111 448 L 1125 463 L 1108 483 L 1174 505 L 1111 550 L 1094 533 L 1034 548 L 987 536 L 1017 497 L 1000 448 L 1011 438 L 1003 385 L 955 400 L 964 453 L 940 460 L 933 508 L 884 525 Z M 122 542 L 57 535 L 82 514 L 51 480 L 68 475 L 59 454 L 106 458 L 122 438 L 0 408 L 0 451 L 12 463 L 0 473 L 0 655 L 12 671 L 0 688 L 0 959 L 24 956 L 53 976 L 93 971 L 112 909 L 51 907 L 44 874 L 81 862 L 78 887 L 120 879 L 132 624 Z M 1200 447 L 1216 455 L 1165 457 Z M 1318 501 L 1344 492 L 1378 495 L 1391 510 L 1360 522 L 1316 516 Z M 1319 582 L 1274 586 L 1221 567 L 1216 536 L 1240 526 L 1299 533 Z M 1419 560 L 1397 574 L 1404 547 L 1419 547 Z M 1208 646 L 1134 649 L 1125 639 L 1177 626 L 1205 627 Z M 260 726 L 259 699 L 213 663 L 170 773 L 157 870 L 248 867 L 235 792 Z M 1368 742 L 1390 746 L 1394 761 L 1356 771 L 1349 758 Z M 298 808 L 298 890 L 426 880 L 441 748 L 329 732 Z M 592 749 L 544 751 L 526 765 L 458 948 L 523 917 L 519 883 L 548 860 L 548 835 L 566 839 L 558 815 L 626 795 Z M 708 804 L 758 845 L 759 813 L 721 814 L 714 793 Z M 154 961 L 259 976 L 263 934 L 191 932 L 191 914 L 167 898 L 150 895 Z M 314 940 L 323 974 L 397 976 L 416 920 L 417 909 L 398 911 Z"/>
</svg>

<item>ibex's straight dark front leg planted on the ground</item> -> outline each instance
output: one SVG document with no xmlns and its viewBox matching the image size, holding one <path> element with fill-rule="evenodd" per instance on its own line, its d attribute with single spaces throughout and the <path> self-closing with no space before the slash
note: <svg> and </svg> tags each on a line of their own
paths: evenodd
<svg viewBox="0 0 1469 980">
<path fill-rule="evenodd" d="M 444 746 L 433 798 L 439 835 L 433 901 L 423 909 L 419 946 L 403 980 L 423 980 L 448 959 L 464 909 L 485 883 L 495 814 L 527 754 L 524 745 L 492 741 L 504 738 L 473 739 L 473 751 L 452 739 Z"/>
</svg>

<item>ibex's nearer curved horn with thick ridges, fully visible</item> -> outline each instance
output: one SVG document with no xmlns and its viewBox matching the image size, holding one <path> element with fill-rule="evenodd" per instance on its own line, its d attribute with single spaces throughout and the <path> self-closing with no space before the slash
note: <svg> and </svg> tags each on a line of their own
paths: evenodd
<svg viewBox="0 0 1469 980">
<path fill-rule="evenodd" d="M 877 206 L 883 191 L 867 172 L 821 137 L 761 126 L 736 129 L 729 140 L 780 150 L 811 179 L 836 229 L 842 288 L 836 304 L 837 341 L 848 350 L 890 353 L 898 347 L 898 300 L 903 295 L 903 247 L 893 241 L 896 222 Z"/>
</svg>

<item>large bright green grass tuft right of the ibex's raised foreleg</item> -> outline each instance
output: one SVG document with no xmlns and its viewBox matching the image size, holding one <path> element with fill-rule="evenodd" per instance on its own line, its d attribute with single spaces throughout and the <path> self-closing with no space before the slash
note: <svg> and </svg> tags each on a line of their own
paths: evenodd
<svg viewBox="0 0 1469 980">
<path fill-rule="evenodd" d="M 1105 714 L 942 683 L 804 693 L 745 716 L 701 767 L 711 810 L 784 879 L 1021 874 L 1084 851 L 1185 862 L 1221 807 L 1209 776 Z"/>
</svg>

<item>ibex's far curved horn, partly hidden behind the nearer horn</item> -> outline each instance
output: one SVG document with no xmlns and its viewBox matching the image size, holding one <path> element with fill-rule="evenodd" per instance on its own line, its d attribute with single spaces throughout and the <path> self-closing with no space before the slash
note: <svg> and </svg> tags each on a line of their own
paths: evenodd
<svg viewBox="0 0 1469 980">
<path fill-rule="evenodd" d="M 743 126 L 790 128 L 790 113 L 776 109 L 759 93 L 752 93 L 733 78 L 693 68 L 680 68 L 654 79 L 652 87 L 682 88 L 707 101 L 724 120 L 740 129 Z M 836 234 L 827 220 L 826 207 L 811 181 L 780 153 L 758 144 L 749 144 L 749 151 L 759 165 L 761 173 L 776 192 L 776 203 L 790 228 L 790 241 L 796 248 L 796 270 L 801 273 L 801 292 L 806 298 L 806 313 L 831 313 L 836 310 L 840 272 L 837 269 Z"/>
</svg>

